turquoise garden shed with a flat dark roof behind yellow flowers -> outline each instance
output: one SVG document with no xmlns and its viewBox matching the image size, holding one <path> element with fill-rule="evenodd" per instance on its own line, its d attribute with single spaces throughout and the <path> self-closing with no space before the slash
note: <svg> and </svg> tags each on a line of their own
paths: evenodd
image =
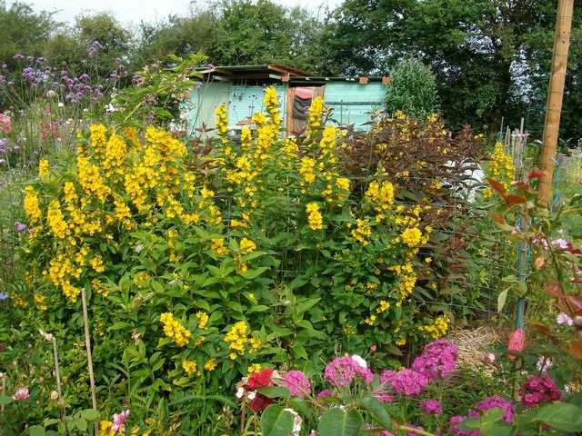
<svg viewBox="0 0 582 436">
<path fill-rule="evenodd" d="M 214 129 L 216 106 L 226 104 L 232 130 L 249 124 L 264 110 L 266 86 L 275 86 L 287 134 L 303 134 L 311 99 L 323 96 L 337 124 L 367 130 L 372 114 L 384 107 L 386 76 L 323 77 L 282 64 L 211 66 L 201 70 L 202 80 L 184 106 L 188 132 Z"/>
</svg>

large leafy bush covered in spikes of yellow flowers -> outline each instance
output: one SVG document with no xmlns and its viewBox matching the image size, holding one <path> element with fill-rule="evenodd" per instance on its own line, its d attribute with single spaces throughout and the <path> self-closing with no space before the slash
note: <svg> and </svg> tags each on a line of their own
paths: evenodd
<svg viewBox="0 0 582 436">
<path fill-rule="evenodd" d="M 75 155 L 39 164 L 25 188 L 27 273 L 9 301 L 15 322 L 35 320 L 28 334 L 55 334 L 63 379 L 75 380 L 64 383 L 67 407 L 88 396 L 82 288 L 96 383 L 104 394 L 115 388 L 103 408 L 131 404 L 142 425 L 154 403 L 165 422 L 184 407 L 199 413 L 195 404 L 176 409 L 186 393 L 228 404 L 215 392 L 266 360 L 317 367 L 329 345 L 375 344 L 386 361 L 398 346 L 447 332 L 446 314 L 413 299 L 432 233 L 425 208 L 395 203 L 383 173 L 352 194 L 337 154 L 342 135 L 322 123 L 321 99 L 297 142 L 279 137 L 273 89 L 265 99 L 267 113 L 241 144 L 227 138 L 219 107 L 210 154 L 189 155 L 155 127 L 92 124 Z"/>
</svg>

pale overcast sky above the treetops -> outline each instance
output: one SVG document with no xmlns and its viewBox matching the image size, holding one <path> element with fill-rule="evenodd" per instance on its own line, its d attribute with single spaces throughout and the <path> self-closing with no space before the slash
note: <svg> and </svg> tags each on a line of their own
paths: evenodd
<svg viewBox="0 0 582 436">
<path fill-rule="evenodd" d="M 137 24 L 140 21 L 157 21 L 167 15 L 186 15 L 190 1 L 188 0 L 24 0 L 35 10 L 58 11 L 56 20 L 72 23 L 75 16 L 83 13 L 109 11 L 114 13 L 118 20 L 125 24 Z M 341 0 L 274 0 L 280 5 L 316 8 L 326 4 L 330 8 L 336 7 Z M 6 2 L 12 4 L 11 0 Z M 203 5 L 204 1 L 198 1 Z"/>
</svg>

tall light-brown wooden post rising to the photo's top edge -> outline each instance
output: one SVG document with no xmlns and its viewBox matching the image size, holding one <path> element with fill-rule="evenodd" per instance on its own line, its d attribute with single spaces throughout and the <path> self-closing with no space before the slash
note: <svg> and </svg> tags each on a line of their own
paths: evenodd
<svg viewBox="0 0 582 436">
<path fill-rule="evenodd" d="M 557 135 L 560 128 L 564 83 L 566 81 L 567 53 L 572 28 L 574 0 L 557 0 L 556 33 L 554 34 L 554 55 L 552 71 L 547 89 L 546 120 L 541 156 L 541 169 L 544 174 L 539 181 L 537 203 L 547 206 L 552 192 L 554 163 L 557 150 Z"/>
</svg>

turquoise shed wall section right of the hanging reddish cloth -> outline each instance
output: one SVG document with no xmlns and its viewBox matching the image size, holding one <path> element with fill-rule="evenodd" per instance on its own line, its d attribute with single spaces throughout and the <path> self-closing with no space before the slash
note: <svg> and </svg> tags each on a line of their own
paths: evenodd
<svg viewBox="0 0 582 436">
<path fill-rule="evenodd" d="M 369 130 L 370 112 L 382 109 L 386 85 L 381 82 L 331 82 L 326 84 L 326 105 L 334 109 L 339 124 L 355 124 L 358 130 Z"/>
</svg>

